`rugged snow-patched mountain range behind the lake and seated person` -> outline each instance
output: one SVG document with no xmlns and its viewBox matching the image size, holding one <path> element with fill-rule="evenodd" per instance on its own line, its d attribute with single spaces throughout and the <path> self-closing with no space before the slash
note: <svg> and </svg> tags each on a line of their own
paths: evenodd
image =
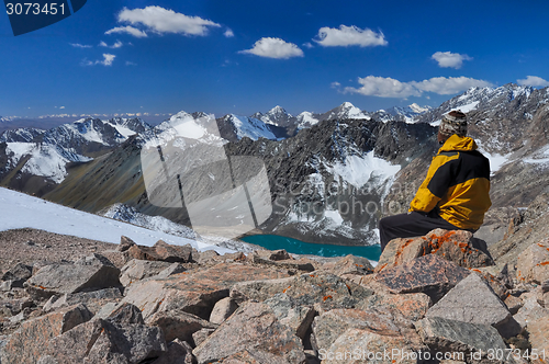
<svg viewBox="0 0 549 364">
<path fill-rule="evenodd" d="M 139 152 L 173 125 L 191 133 L 182 122 L 192 118 L 201 140 L 217 140 L 227 156 L 264 161 L 273 214 L 261 232 L 370 244 L 381 216 L 406 211 L 436 152 L 437 123 L 450 110 L 468 113 L 470 135 L 491 159 L 489 223 L 502 208 L 528 205 L 547 192 L 548 102 L 549 88 L 506 84 L 470 89 L 436 109 L 412 104 L 370 113 L 346 102 L 292 116 L 277 106 L 220 117 L 216 130 L 201 124 L 206 114 L 184 112 L 155 127 L 138 118 L 85 118 L 49 130 L 10 129 L 0 135 L 0 184 L 87 212 L 123 203 L 190 225 L 186 208 L 150 204 Z"/>
</svg>

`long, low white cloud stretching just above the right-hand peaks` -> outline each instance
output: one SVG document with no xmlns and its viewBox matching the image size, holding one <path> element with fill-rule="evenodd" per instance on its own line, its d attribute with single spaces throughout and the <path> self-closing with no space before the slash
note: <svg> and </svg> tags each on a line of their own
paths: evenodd
<svg viewBox="0 0 549 364">
<path fill-rule="evenodd" d="M 472 87 L 490 87 L 492 83 L 484 80 L 475 80 L 467 77 L 434 77 L 423 81 L 401 82 L 392 78 L 368 76 L 359 78 L 360 88 L 347 87 L 344 92 L 359 93 L 378 98 L 421 96 L 424 92 L 437 94 L 455 94 L 466 91 Z"/>
</svg>

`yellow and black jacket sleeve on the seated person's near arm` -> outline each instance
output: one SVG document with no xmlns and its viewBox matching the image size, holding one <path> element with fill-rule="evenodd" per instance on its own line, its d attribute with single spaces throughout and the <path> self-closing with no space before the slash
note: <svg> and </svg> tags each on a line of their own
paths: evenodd
<svg viewBox="0 0 549 364">
<path fill-rule="evenodd" d="M 427 177 L 410 204 L 410 212 L 429 213 L 437 206 L 450 186 L 458 159 L 458 152 L 437 155 L 433 158 Z"/>
</svg>

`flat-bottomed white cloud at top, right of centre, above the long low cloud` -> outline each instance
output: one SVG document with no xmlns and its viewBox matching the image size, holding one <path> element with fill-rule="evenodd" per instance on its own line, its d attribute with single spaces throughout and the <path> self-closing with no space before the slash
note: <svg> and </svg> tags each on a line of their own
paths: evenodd
<svg viewBox="0 0 549 364">
<path fill-rule="evenodd" d="M 325 47 L 373 47 L 388 45 L 383 33 L 376 33 L 369 29 L 361 30 L 355 25 L 340 25 L 339 29 L 324 26 L 318 30 L 317 37 L 318 39 L 313 41 Z"/>
</svg>

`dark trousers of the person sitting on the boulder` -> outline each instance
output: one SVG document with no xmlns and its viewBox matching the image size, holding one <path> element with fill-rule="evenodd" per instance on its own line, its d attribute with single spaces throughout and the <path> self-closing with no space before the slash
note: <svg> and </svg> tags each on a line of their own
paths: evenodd
<svg viewBox="0 0 549 364">
<path fill-rule="evenodd" d="M 381 251 L 393 239 L 421 237 L 437 228 L 463 230 L 434 214 L 413 212 L 384 217 L 379 221 Z M 470 231 L 474 232 L 474 230 Z"/>
</svg>

